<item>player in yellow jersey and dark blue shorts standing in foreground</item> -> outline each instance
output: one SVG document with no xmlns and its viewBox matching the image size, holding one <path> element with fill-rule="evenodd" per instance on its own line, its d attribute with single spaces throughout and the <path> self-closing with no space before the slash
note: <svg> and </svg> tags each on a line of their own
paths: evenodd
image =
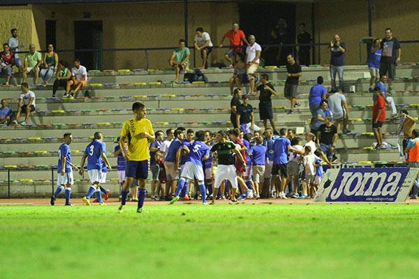
<svg viewBox="0 0 419 279">
<path fill-rule="evenodd" d="M 122 189 L 121 205 L 118 208 L 119 213 L 124 212 L 126 197 L 134 179 L 138 179 L 138 186 L 140 187 L 140 190 L 138 190 L 137 212 L 142 212 L 142 204 L 144 204 L 145 199 L 145 181 L 149 170 L 148 160 L 150 153 L 148 143 L 154 142 L 156 139 L 152 123 L 145 119 L 147 114 L 145 104 L 142 102 L 133 103 L 133 114 L 133 119 L 125 121 L 121 137 L 119 137 L 119 146 L 126 160 L 126 181 Z M 125 149 L 125 140 L 128 142 L 128 152 Z"/>
</svg>

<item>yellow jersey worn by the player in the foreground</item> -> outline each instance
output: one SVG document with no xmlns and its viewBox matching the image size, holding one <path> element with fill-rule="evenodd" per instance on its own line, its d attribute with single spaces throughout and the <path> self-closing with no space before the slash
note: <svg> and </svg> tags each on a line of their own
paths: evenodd
<svg viewBox="0 0 419 279">
<path fill-rule="evenodd" d="M 152 122 L 148 119 L 129 119 L 122 126 L 121 135 L 128 137 L 128 156 L 129 160 L 142 161 L 150 158 L 147 137 L 140 137 L 140 133 L 154 135 Z"/>
</svg>

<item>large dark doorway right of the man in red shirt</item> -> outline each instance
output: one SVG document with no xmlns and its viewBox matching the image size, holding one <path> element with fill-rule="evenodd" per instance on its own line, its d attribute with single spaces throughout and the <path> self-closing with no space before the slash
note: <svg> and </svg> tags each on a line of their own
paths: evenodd
<svg viewBox="0 0 419 279">
<path fill-rule="evenodd" d="M 239 3 L 240 29 L 246 36 L 253 34 L 259 45 L 295 43 L 295 5 L 265 2 Z M 257 19 L 255 21 L 255 19 Z M 271 35 L 272 30 L 276 32 Z M 274 38 L 276 37 L 276 38 Z M 266 66 L 286 65 L 286 55 L 295 53 L 294 47 L 262 47 Z"/>
</svg>

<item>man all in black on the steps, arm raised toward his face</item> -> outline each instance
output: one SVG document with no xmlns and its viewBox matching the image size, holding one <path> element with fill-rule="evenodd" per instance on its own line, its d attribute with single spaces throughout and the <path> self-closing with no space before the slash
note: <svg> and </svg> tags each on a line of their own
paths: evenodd
<svg viewBox="0 0 419 279">
<path fill-rule="evenodd" d="M 259 116 L 263 120 L 263 126 L 267 129 L 267 121 L 269 120 L 271 126 L 275 129 L 274 113 L 272 112 L 272 94 L 279 95 L 275 91 L 274 86 L 269 82 L 267 74 L 260 75 L 260 84 L 258 86 L 259 93 Z"/>
</svg>

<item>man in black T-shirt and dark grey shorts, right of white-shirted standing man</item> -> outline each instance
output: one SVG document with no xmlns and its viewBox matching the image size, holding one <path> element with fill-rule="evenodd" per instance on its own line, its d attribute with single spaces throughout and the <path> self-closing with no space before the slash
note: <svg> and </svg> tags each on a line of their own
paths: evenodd
<svg viewBox="0 0 419 279">
<path fill-rule="evenodd" d="M 301 104 L 297 103 L 295 97 L 297 97 L 297 88 L 298 88 L 298 79 L 302 76 L 302 71 L 300 64 L 295 62 L 293 54 L 288 54 L 286 56 L 286 82 L 284 88 L 284 96 L 288 100 L 291 100 L 291 110 L 288 111 L 288 114 L 294 113 L 294 107 L 299 107 Z"/>
</svg>

